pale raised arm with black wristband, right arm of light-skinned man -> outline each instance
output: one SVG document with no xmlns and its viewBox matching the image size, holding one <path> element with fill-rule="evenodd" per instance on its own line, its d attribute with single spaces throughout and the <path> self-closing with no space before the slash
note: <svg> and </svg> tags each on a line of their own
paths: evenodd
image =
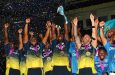
<svg viewBox="0 0 115 75">
<path fill-rule="evenodd" d="M 96 35 L 96 26 L 95 26 L 95 21 L 94 21 L 94 16 L 92 14 L 90 14 L 90 20 L 91 20 L 91 23 L 92 23 L 92 46 L 94 48 L 97 47 L 97 35 Z"/>
</svg>

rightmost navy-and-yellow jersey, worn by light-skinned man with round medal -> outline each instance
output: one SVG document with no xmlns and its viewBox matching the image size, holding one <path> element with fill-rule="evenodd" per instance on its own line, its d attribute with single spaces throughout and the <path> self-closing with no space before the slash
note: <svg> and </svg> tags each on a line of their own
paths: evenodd
<svg viewBox="0 0 115 75">
<path fill-rule="evenodd" d="M 94 66 L 95 52 L 95 48 L 93 48 L 91 44 L 81 45 L 81 48 L 78 50 L 78 70 L 82 68 L 91 68 L 92 72 L 96 73 Z"/>
</svg>

